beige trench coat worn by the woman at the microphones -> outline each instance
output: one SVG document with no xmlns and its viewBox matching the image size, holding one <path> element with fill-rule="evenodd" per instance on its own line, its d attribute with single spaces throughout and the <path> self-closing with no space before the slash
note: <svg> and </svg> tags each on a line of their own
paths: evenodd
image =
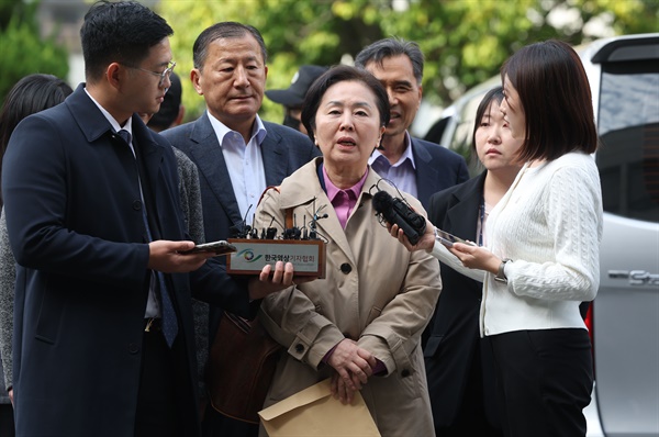
<svg viewBox="0 0 659 437">
<path fill-rule="evenodd" d="M 361 390 L 381 435 L 433 436 L 420 344 L 442 290 L 439 265 L 424 250 L 409 253 L 378 223 L 369 189 L 380 177 L 370 168 L 344 232 L 319 181 L 321 160 L 284 179 L 279 192 L 267 191 L 256 211 L 257 228 L 272 223 L 280 231 L 288 209 L 298 226 L 304 217 L 309 224 L 315 211 L 328 214 L 317 222 L 319 234 L 330 242 L 326 278 L 271 294 L 261 304 L 264 325 L 288 349 L 265 406 L 332 376 L 322 359 L 348 337 L 387 367 L 386 376 L 371 377 Z M 398 197 L 388 183 L 379 187 Z M 405 198 L 425 215 L 416 199 Z"/>
</svg>

